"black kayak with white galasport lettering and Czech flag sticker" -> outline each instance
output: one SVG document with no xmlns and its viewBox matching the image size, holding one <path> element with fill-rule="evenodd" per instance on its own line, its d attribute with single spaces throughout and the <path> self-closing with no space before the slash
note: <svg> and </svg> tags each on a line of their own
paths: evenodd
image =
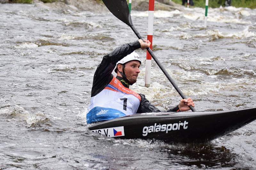
<svg viewBox="0 0 256 170">
<path fill-rule="evenodd" d="M 89 130 L 121 139 L 209 142 L 256 119 L 256 108 L 217 112 L 134 114 L 100 122 Z"/>
</svg>

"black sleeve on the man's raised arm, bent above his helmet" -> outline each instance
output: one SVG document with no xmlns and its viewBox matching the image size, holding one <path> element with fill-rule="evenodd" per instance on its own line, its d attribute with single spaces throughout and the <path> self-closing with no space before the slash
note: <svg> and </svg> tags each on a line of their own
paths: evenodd
<svg viewBox="0 0 256 170">
<path fill-rule="evenodd" d="M 91 97 L 100 93 L 112 80 L 113 75 L 111 73 L 115 69 L 116 63 L 138 48 L 140 48 L 140 42 L 134 41 L 117 47 L 103 57 L 93 76 Z"/>
</svg>

